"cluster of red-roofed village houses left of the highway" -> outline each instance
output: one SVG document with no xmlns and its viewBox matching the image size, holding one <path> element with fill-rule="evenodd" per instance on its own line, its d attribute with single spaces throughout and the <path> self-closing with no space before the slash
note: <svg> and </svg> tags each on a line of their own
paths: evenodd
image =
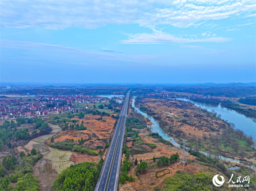
<svg viewBox="0 0 256 191">
<path fill-rule="evenodd" d="M 38 117 L 49 113 L 62 114 L 71 112 L 73 103 L 104 103 L 107 98 L 98 96 L 37 96 L 29 100 L 0 98 L 1 120 L 15 119 L 17 117 Z M 88 108 L 88 107 L 86 107 Z"/>
</svg>

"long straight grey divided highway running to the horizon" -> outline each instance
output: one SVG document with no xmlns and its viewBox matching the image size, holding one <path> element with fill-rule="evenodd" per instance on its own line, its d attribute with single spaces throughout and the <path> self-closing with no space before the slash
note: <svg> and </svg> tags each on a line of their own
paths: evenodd
<svg viewBox="0 0 256 191">
<path fill-rule="evenodd" d="M 115 126 L 113 138 L 110 142 L 95 191 L 117 190 L 130 91 L 127 92 L 124 99 L 124 105 Z"/>
</svg>

